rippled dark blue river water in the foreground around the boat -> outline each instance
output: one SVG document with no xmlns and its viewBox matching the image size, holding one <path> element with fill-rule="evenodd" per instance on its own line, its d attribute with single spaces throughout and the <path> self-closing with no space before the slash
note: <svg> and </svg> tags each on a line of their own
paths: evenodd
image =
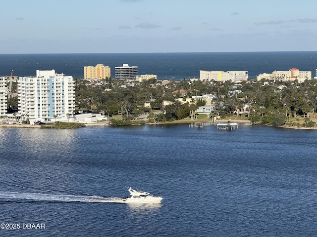
<svg viewBox="0 0 317 237">
<path fill-rule="evenodd" d="M 316 137 L 243 125 L 0 128 L 0 223 L 21 224 L 0 236 L 316 236 Z M 128 186 L 164 199 L 98 202 Z"/>
</svg>

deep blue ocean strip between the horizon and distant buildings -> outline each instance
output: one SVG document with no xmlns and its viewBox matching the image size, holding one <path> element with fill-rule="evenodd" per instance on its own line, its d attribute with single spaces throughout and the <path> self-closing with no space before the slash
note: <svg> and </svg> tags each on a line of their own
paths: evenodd
<svg viewBox="0 0 317 237">
<path fill-rule="evenodd" d="M 317 51 L 233 52 L 233 53 L 100 53 L 100 54 L 0 54 L 0 76 L 34 76 L 36 70 L 84 78 L 84 66 L 138 66 L 138 74 L 156 74 L 158 79 L 199 78 L 199 70 L 248 71 L 254 79 L 260 73 L 298 68 L 315 76 Z"/>
</svg>

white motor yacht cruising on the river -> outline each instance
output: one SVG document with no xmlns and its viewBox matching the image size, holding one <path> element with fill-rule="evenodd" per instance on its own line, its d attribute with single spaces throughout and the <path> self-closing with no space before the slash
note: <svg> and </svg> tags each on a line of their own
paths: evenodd
<svg viewBox="0 0 317 237">
<path fill-rule="evenodd" d="M 123 198 L 125 203 L 159 203 L 163 197 L 155 197 L 144 191 L 137 191 L 129 187 L 131 197 Z"/>
</svg>

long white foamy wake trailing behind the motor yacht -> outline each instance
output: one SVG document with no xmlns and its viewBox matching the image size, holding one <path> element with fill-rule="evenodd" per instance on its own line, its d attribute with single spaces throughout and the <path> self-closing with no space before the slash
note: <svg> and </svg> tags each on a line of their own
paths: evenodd
<svg viewBox="0 0 317 237">
<path fill-rule="evenodd" d="M 62 202 L 117 202 L 123 203 L 119 197 L 79 196 L 79 195 L 53 195 L 38 193 L 0 192 L 0 199 L 6 200 L 31 200 L 31 201 L 62 201 Z"/>
</svg>

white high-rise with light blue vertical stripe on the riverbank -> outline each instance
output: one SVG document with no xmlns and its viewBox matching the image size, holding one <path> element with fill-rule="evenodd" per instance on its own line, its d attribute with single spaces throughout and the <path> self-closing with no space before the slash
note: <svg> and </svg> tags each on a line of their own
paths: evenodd
<svg viewBox="0 0 317 237">
<path fill-rule="evenodd" d="M 74 114 L 75 94 L 72 76 L 55 70 L 36 70 L 36 77 L 18 79 L 19 116 L 34 121 L 67 121 Z"/>
</svg>

